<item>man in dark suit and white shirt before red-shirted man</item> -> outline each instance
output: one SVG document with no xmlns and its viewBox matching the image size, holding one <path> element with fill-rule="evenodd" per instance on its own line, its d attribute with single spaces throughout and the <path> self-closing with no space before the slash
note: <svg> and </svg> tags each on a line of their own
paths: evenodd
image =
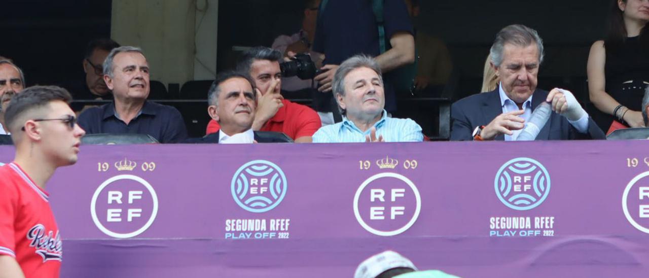
<svg viewBox="0 0 649 278">
<path fill-rule="evenodd" d="M 208 90 L 208 114 L 221 129 L 202 138 L 191 138 L 189 144 L 218 143 L 246 144 L 289 142 L 282 133 L 252 131 L 256 111 L 256 92 L 259 92 L 246 73 L 234 71 L 221 73 Z"/>
</svg>

